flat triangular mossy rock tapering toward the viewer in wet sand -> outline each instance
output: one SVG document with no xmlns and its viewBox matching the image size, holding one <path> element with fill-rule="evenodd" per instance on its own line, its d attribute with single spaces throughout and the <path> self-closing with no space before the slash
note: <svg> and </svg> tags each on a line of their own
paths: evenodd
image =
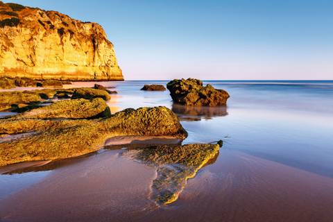
<svg viewBox="0 0 333 222">
<path fill-rule="evenodd" d="M 187 180 L 214 159 L 219 148 L 218 144 L 162 145 L 134 151 L 133 156 L 157 167 L 152 198 L 158 204 L 168 204 L 177 200 Z"/>
</svg>

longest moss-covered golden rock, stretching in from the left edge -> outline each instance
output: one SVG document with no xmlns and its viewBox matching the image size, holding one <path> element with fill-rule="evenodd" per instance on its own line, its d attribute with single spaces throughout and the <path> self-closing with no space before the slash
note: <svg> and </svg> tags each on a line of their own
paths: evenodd
<svg viewBox="0 0 333 222">
<path fill-rule="evenodd" d="M 110 137 L 126 135 L 187 137 L 178 117 L 165 107 L 127 109 L 106 119 L 0 119 L 1 134 L 35 134 L 0 143 L 0 166 L 56 160 L 92 153 Z"/>
</svg>

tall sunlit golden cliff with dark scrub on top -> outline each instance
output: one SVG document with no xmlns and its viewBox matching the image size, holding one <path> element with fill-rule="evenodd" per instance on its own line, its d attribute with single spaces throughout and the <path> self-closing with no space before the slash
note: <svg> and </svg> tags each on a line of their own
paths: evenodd
<svg viewBox="0 0 333 222">
<path fill-rule="evenodd" d="M 112 43 L 96 23 L 0 1 L 0 76 L 123 80 Z"/>
</svg>

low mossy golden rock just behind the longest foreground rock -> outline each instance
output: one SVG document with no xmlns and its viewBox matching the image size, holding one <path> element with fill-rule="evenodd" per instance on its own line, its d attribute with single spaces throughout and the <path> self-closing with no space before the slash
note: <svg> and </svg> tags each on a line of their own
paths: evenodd
<svg viewBox="0 0 333 222">
<path fill-rule="evenodd" d="M 110 117 L 111 112 L 108 105 L 101 98 L 96 99 L 71 99 L 58 101 L 51 105 L 43 106 L 28 112 L 19 114 L 17 117 L 50 119 L 50 118 L 69 118 L 87 119 Z"/>
</svg>

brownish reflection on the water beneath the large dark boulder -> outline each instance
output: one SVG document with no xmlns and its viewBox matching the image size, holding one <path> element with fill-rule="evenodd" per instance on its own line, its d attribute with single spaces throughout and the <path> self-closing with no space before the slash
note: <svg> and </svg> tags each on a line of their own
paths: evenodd
<svg viewBox="0 0 333 222">
<path fill-rule="evenodd" d="M 212 119 L 213 117 L 225 117 L 228 115 L 227 106 L 189 106 L 173 103 L 172 111 L 180 120 L 200 121 L 200 119 Z"/>
</svg>

